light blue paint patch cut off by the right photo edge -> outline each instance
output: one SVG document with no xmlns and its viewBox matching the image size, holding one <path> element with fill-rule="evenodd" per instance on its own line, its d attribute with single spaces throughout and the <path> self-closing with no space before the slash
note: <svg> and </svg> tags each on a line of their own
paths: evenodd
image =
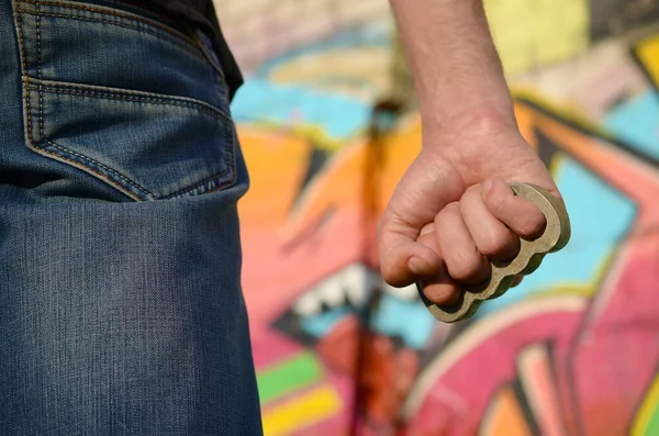
<svg viewBox="0 0 659 436">
<path fill-rule="evenodd" d="M 604 126 L 638 150 L 659 159 L 659 96 L 648 91 L 616 107 Z"/>
</svg>

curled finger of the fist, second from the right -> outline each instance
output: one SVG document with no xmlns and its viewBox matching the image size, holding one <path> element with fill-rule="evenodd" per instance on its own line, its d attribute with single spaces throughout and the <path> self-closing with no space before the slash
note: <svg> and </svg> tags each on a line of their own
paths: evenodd
<svg viewBox="0 0 659 436">
<path fill-rule="evenodd" d="M 480 186 L 465 192 L 460 199 L 460 213 L 480 254 L 499 261 L 512 260 L 517 256 L 520 237 L 492 215 Z"/>
</svg>

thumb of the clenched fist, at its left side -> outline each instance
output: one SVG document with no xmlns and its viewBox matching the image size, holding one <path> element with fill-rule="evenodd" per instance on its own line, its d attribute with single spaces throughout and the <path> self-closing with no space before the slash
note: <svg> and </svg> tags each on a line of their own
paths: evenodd
<svg viewBox="0 0 659 436">
<path fill-rule="evenodd" d="M 417 231 L 391 217 L 389 212 L 382 215 L 378 234 L 380 269 L 387 283 L 405 287 L 439 272 L 442 261 L 437 253 L 416 242 Z"/>
</svg>

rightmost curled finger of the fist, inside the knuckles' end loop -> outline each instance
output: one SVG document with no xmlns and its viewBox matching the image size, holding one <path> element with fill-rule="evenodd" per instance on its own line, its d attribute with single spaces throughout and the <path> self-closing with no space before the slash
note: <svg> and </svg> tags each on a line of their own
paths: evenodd
<svg viewBox="0 0 659 436">
<path fill-rule="evenodd" d="M 525 238 L 537 238 L 543 235 L 547 225 L 543 212 L 530 201 L 515 195 L 503 180 L 487 180 L 483 183 L 482 197 L 492 215 L 517 235 Z"/>
</svg>

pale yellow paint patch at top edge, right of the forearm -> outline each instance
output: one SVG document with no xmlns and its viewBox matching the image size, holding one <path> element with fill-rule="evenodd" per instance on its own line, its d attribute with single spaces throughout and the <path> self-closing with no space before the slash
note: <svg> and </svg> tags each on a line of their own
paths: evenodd
<svg viewBox="0 0 659 436">
<path fill-rule="evenodd" d="M 485 8 L 509 75 L 566 60 L 589 46 L 587 0 L 490 0 Z"/>
</svg>

